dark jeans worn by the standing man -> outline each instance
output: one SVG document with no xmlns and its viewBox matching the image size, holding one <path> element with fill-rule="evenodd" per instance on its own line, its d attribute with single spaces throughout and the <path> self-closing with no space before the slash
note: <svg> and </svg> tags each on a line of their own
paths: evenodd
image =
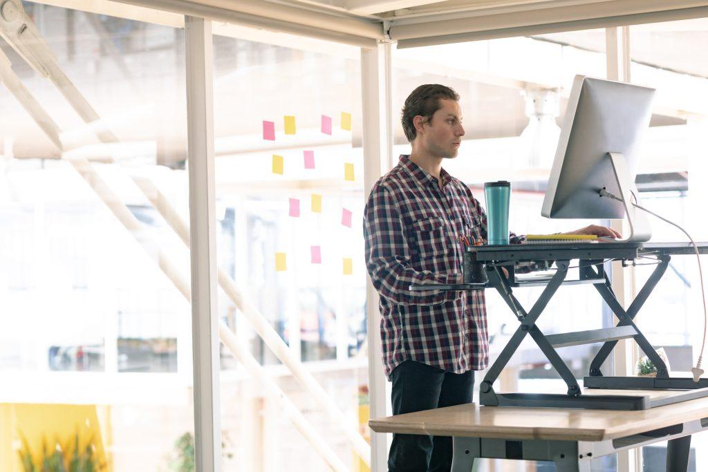
<svg viewBox="0 0 708 472">
<path fill-rule="evenodd" d="M 474 372 L 453 374 L 437 367 L 404 361 L 391 374 L 394 415 L 472 403 Z M 452 466 L 452 438 L 394 434 L 389 472 L 441 472 Z"/>
</svg>

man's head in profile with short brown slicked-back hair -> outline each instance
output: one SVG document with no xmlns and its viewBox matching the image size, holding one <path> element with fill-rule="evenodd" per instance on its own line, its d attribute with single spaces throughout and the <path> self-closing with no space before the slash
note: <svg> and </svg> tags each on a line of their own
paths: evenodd
<svg viewBox="0 0 708 472">
<path fill-rule="evenodd" d="M 459 95 L 440 84 L 421 85 L 406 98 L 401 123 L 406 137 L 438 157 L 455 157 L 464 136 Z"/>
</svg>

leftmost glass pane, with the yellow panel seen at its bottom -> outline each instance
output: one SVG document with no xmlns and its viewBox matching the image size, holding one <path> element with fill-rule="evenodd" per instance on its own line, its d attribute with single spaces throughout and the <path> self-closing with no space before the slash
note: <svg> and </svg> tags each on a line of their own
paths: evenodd
<svg viewBox="0 0 708 472">
<path fill-rule="evenodd" d="M 189 250 L 150 200 L 188 219 L 183 30 L 23 7 L 51 72 L 0 41 L 0 470 L 76 441 L 107 470 L 177 470 Z"/>
</svg>

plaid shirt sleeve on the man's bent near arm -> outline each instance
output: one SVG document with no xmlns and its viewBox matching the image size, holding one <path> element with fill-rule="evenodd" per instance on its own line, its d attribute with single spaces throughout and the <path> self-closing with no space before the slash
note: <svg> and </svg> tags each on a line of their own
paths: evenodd
<svg viewBox="0 0 708 472">
<path fill-rule="evenodd" d="M 411 292 L 411 284 L 451 284 L 462 275 L 434 274 L 411 267 L 411 255 L 398 207 L 384 185 L 377 183 L 364 209 L 366 267 L 379 294 L 394 304 L 437 305 L 459 297 L 458 291 Z"/>
</svg>

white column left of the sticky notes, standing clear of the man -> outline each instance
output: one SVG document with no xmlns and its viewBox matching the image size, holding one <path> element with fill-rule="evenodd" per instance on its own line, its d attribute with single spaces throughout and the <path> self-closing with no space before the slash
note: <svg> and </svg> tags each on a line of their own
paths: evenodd
<svg viewBox="0 0 708 472">
<path fill-rule="evenodd" d="M 198 472 L 221 470 L 212 24 L 185 16 L 194 437 Z"/>
</svg>

